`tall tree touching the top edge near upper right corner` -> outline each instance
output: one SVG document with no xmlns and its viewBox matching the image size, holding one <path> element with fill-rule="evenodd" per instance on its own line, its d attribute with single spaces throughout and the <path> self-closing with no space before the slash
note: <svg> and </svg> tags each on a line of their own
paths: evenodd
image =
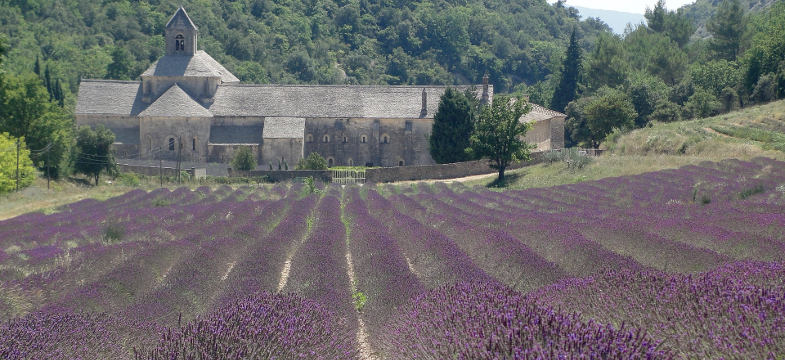
<svg viewBox="0 0 785 360">
<path fill-rule="evenodd" d="M 706 24 L 711 32 L 711 48 L 718 57 L 733 61 L 739 53 L 744 33 L 744 9 L 739 0 L 725 0 Z"/>
</svg>

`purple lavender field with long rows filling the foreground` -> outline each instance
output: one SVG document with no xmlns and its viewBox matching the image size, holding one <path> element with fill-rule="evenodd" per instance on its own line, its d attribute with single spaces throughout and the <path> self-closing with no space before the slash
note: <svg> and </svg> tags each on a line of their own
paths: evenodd
<svg viewBox="0 0 785 360">
<path fill-rule="evenodd" d="M 776 358 L 784 279 L 764 158 L 504 192 L 136 190 L 0 222 L 0 358 Z"/>
</svg>

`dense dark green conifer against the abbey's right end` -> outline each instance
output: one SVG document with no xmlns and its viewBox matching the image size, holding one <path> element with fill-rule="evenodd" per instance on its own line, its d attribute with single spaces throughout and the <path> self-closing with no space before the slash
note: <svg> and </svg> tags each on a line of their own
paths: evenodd
<svg viewBox="0 0 785 360">
<path fill-rule="evenodd" d="M 466 148 L 474 130 L 474 112 L 466 95 L 447 88 L 433 116 L 430 142 L 431 157 L 439 164 L 469 160 Z"/>
</svg>

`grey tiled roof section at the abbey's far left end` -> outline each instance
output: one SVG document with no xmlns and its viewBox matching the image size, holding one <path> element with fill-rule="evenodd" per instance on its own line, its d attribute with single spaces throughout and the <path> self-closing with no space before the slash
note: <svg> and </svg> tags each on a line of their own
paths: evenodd
<svg viewBox="0 0 785 360">
<path fill-rule="evenodd" d="M 142 111 L 139 81 L 82 79 L 76 102 L 76 114 L 131 116 Z"/>
</svg>

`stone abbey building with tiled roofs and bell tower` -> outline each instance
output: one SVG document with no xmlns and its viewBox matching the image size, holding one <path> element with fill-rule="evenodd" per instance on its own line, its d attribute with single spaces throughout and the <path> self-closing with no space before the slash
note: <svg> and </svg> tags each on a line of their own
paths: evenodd
<svg viewBox="0 0 785 360">
<path fill-rule="evenodd" d="M 255 85 L 197 48 L 198 29 L 179 8 L 166 53 L 140 81 L 83 79 L 76 121 L 115 133 L 119 158 L 229 162 L 250 146 L 266 168 L 293 167 L 311 152 L 329 165 L 433 164 L 428 136 L 445 86 Z M 465 87 L 464 87 L 465 88 Z M 487 78 L 476 87 L 493 101 Z M 564 145 L 564 114 L 532 104 L 526 140 Z"/>
</svg>

